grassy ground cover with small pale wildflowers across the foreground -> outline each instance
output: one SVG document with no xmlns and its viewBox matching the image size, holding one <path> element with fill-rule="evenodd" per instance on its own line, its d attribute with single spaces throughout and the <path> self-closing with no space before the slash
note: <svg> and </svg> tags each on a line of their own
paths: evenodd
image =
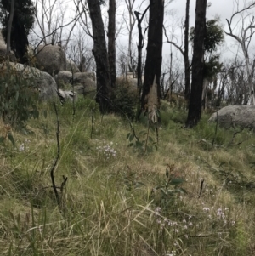
<svg viewBox="0 0 255 256">
<path fill-rule="evenodd" d="M 252 131 L 206 113 L 185 129 L 167 102 L 158 135 L 94 100 L 56 108 L 37 105 L 26 128 L 0 123 L 1 255 L 255 254 Z"/>
</svg>

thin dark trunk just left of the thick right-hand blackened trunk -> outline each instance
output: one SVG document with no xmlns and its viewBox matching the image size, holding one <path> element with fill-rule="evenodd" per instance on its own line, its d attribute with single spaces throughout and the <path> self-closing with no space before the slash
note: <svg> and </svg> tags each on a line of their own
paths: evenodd
<svg viewBox="0 0 255 256">
<path fill-rule="evenodd" d="M 184 65 L 185 65 L 185 100 L 190 99 L 190 60 L 189 60 L 189 30 L 190 30 L 190 0 L 186 1 L 184 27 Z"/>
</svg>

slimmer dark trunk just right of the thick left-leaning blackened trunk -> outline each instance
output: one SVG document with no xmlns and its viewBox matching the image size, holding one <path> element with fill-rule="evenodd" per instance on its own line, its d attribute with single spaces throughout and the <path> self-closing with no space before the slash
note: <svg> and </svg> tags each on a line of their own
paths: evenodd
<svg viewBox="0 0 255 256">
<path fill-rule="evenodd" d="M 108 60 L 110 65 L 111 88 L 116 83 L 116 0 L 109 0 Z"/>
</svg>

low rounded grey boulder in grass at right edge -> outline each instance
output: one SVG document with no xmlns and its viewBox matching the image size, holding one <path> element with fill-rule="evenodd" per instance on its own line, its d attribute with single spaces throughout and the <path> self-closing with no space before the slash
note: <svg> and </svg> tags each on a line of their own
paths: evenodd
<svg viewBox="0 0 255 256">
<path fill-rule="evenodd" d="M 223 128 L 251 128 L 255 132 L 255 105 L 228 105 L 212 114 L 208 122 Z"/>
</svg>

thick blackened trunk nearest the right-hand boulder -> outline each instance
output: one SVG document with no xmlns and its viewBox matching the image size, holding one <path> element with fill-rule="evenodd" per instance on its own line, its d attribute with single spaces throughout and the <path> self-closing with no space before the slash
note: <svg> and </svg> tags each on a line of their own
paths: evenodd
<svg viewBox="0 0 255 256">
<path fill-rule="evenodd" d="M 189 113 L 186 128 L 194 127 L 201 119 L 201 98 L 204 71 L 204 38 L 206 32 L 207 0 L 196 0 L 194 51 Z"/>
</svg>

